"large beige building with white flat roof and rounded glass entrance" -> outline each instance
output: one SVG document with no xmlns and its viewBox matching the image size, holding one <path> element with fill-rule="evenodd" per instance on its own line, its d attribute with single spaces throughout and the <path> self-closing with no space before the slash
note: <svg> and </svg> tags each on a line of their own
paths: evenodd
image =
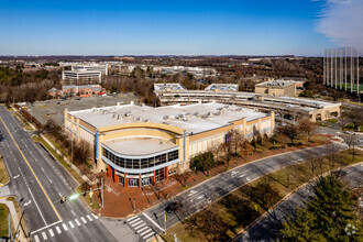
<svg viewBox="0 0 363 242">
<path fill-rule="evenodd" d="M 64 122 L 73 139 L 95 147 L 98 170 L 125 187 L 142 187 L 188 170 L 193 156 L 228 142 L 231 130 L 246 139 L 272 134 L 274 120 L 274 112 L 209 102 L 65 110 Z"/>
</svg>

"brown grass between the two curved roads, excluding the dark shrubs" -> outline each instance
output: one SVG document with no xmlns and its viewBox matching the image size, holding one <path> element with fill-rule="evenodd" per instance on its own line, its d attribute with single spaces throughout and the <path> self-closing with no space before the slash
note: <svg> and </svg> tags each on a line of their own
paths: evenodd
<svg viewBox="0 0 363 242">
<path fill-rule="evenodd" d="M 355 156 L 354 162 L 352 161 L 352 156 L 351 154 L 349 154 L 348 151 L 337 153 L 340 156 L 340 162 L 336 163 L 336 165 L 339 164 L 340 167 L 344 167 L 350 164 L 363 162 L 363 152 L 358 153 L 359 154 Z M 258 184 L 268 180 L 268 184 L 271 184 L 273 189 L 278 193 L 278 195 L 276 195 L 276 198 L 274 199 L 275 204 L 302 184 L 316 177 L 317 173 L 312 172 L 312 164 L 315 164 L 316 170 L 317 164 L 319 164 L 319 174 L 323 174 L 331 170 L 332 167 L 331 163 L 329 162 L 331 160 L 332 157 L 328 160 L 328 156 L 326 156 L 323 158 L 320 157 L 317 160 L 292 165 L 286 168 L 273 172 L 262 178 L 258 178 L 249 184 L 249 186 L 251 188 L 255 188 Z M 234 238 L 243 228 L 249 226 L 251 222 L 253 222 L 255 219 L 257 219 L 265 212 L 265 210 L 258 205 L 258 202 L 255 202 L 255 200 L 251 200 L 250 197 L 246 197 L 245 188 L 246 186 L 240 187 L 230 195 L 219 199 L 218 201 L 209 206 L 207 208 L 208 210 L 201 210 L 186 219 L 184 224 L 177 223 L 176 226 L 172 227 L 167 230 L 166 235 L 162 234 L 163 239 L 166 241 L 174 241 L 173 234 L 176 234 L 177 238 L 182 241 L 208 241 L 206 239 L 206 237 L 208 237 L 210 233 L 208 232 L 208 228 L 207 230 L 196 229 L 196 227 L 191 227 L 190 224 L 193 224 L 191 221 L 194 220 L 194 218 L 208 218 L 208 212 L 210 212 L 210 210 L 217 211 L 216 213 L 219 216 L 218 220 L 223 220 L 228 224 L 227 240 Z M 243 208 L 248 208 L 250 209 L 250 211 L 252 211 L 251 213 L 249 213 L 249 216 L 245 216 L 243 209 L 241 215 L 237 215 L 235 207 L 241 207 L 242 205 L 244 205 Z"/>
</svg>

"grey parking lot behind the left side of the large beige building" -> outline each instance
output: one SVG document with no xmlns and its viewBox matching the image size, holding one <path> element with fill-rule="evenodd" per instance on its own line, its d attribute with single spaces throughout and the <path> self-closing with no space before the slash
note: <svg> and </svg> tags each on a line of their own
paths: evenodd
<svg viewBox="0 0 363 242">
<path fill-rule="evenodd" d="M 114 106 L 118 102 L 121 105 L 130 103 L 131 101 L 136 102 L 136 97 L 133 94 L 120 94 L 118 96 L 94 96 L 89 98 L 67 98 L 52 99 L 46 101 L 34 102 L 33 105 L 28 103 L 26 109 L 35 119 L 42 124 L 45 124 L 48 119 L 53 119 L 58 125 L 64 123 L 64 110 L 67 108 L 69 111 L 90 109 L 94 107 Z"/>
</svg>

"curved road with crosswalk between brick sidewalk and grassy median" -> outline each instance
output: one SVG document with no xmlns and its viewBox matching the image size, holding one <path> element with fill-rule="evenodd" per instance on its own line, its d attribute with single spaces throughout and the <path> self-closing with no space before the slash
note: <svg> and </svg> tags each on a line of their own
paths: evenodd
<svg viewBox="0 0 363 242">
<path fill-rule="evenodd" d="M 340 150 L 346 148 L 346 145 L 338 144 Z M 145 212 L 129 218 L 129 227 L 140 237 L 147 241 L 148 237 L 160 233 L 164 230 L 165 208 L 172 201 L 183 204 L 182 211 L 166 213 L 166 228 L 170 228 L 177 222 L 183 221 L 185 216 L 191 215 L 208 206 L 213 199 L 226 196 L 243 184 L 248 184 L 266 173 L 283 168 L 287 165 L 299 163 L 306 158 L 317 157 L 331 152 L 328 146 L 314 147 L 294 153 L 282 154 L 273 157 L 266 157 L 254 163 L 233 168 L 229 172 L 212 177 L 205 183 L 182 193 L 175 198 L 155 206 Z M 148 233 L 145 233 L 145 230 Z M 148 237 L 145 237 L 148 235 Z"/>
</svg>

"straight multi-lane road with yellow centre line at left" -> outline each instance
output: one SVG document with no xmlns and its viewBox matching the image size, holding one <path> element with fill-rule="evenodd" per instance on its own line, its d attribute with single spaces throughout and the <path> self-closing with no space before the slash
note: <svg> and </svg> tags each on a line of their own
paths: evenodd
<svg viewBox="0 0 363 242">
<path fill-rule="evenodd" d="M 11 178 L 10 193 L 25 210 L 38 241 L 117 241 L 81 199 L 61 205 L 77 183 L 37 144 L 20 121 L 0 106 L 0 151 Z"/>
</svg>

